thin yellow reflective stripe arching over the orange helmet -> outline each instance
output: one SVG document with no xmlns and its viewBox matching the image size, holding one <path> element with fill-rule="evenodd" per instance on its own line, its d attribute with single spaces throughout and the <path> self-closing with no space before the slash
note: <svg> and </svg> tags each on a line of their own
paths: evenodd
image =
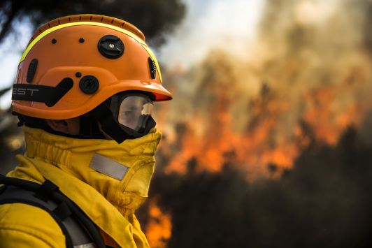
<svg viewBox="0 0 372 248">
<path fill-rule="evenodd" d="M 148 45 L 145 43 L 145 41 L 143 41 L 141 38 L 139 38 L 138 36 L 136 36 L 135 34 L 133 34 L 131 31 L 128 31 L 128 30 L 125 30 L 125 29 L 121 29 L 120 27 L 116 27 L 116 26 L 113 26 L 113 25 L 110 25 L 110 24 L 106 24 L 106 23 L 99 23 L 99 22 L 71 22 L 71 23 L 65 23 L 65 24 L 61 24 L 61 25 L 58 25 L 56 27 L 51 27 L 50 29 L 47 29 L 45 31 L 43 31 L 43 33 L 39 34 L 35 39 L 34 41 L 32 41 L 26 48 L 26 50 L 24 50 L 23 54 L 22 54 L 22 57 L 20 59 L 20 63 L 22 61 L 24 61 L 24 58 L 27 56 L 27 54 L 29 53 L 29 51 L 31 50 L 31 48 L 36 44 L 38 43 L 38 41 L 40 41 L 43 37 L 47 36 L 48 34 L 52 33 L 53 31 L 56 31 L 58 29 L 63 29 L 65 27 L 72 27 L 72 26 L 80 26 L 80 25 L 90 25 L 90 26 L 99 26 L 99 27 L 107 27 L 108 29 L 113 29 L 113 30 L 116 30 L 116 31 L 120 31 L 122 32 L 123 34 L 127 34 L 127 36 L 130 36 L 131 38 L 134 38 L 136 41 L 138 41 L 138 43 L 141 43 L 143 45 L 143 48 L 145 48 L 145 50 L 148 52 L 148 54 L 152 57 L 153 60 L 155 60 L 155 63 L 157 64 L 157 60 L 155 59 L 155 56 L 154 54 L 151 52 L 151 50 L 148 48 Z M 148 49 L 146 49 L 148 48 Z M 157 65 L 158 66 L 158 65 Z M 158 67 L 159 69 L 159 67 Z M 159 74 L 160 75 L 160 74 Z"/>
</svg>

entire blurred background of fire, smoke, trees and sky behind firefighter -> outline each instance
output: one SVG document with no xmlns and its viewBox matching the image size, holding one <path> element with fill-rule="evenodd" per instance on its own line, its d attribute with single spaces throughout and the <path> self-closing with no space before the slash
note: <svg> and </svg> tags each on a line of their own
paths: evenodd
<svg viewBox="0 0 372 248">
<path fill-rule="evenodd" d="M 0 172 L 29 37 L 76 13 L 140 28 L 173 101 L 138 211 L 152 247 L 371 247 L 371 0 L 0 2 Z"/>
</svg>

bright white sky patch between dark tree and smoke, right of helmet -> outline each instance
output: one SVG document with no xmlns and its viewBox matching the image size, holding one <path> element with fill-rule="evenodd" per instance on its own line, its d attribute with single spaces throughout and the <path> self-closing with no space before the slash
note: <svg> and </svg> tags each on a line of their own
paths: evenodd
<svg viewBox="0 0 372 248">
<path fill-rule="evenodd" d="M 238 55 L 255 38 L 264 0 L 186 0 L 187 15 L 159 50 L 167 67 L 189 67 L 213 48 Z M 241 40 L 246 41 L 242 43 Z M 175 54 L 177 56 L 175 56 Z M 245 53 L 246 56 L 246 53 Z"/>
</svg>

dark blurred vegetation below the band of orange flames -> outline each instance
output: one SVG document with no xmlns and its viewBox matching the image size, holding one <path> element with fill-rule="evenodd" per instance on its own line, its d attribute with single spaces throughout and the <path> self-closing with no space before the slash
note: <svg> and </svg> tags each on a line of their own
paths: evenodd
<svg viewBox="0 0 372 248">
<path fill-rule="evenodd" d="M 196 173 L 195 163 L 152 181 L 171 215 L 167 247 L 371 245 L 372 143 L 355 129 L 336 145 L 312 143 L 277 180 L 248 182 L 234 163 Z"/>
</svg>

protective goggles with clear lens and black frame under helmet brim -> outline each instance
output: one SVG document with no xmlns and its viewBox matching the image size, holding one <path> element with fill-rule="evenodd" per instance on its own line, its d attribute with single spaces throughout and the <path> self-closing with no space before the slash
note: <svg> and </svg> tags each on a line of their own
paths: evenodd
<svg viewBox="0 0 372 248">
<path fill-rule="evenodd" d="M 80 117 L 80 136 L 85 138 L 106 138 L 101 131 L 117 143 L 127 139 L 140 138 L 155 127 L 152 118 L 155 95 L 150 92 L 126 91 L 107 99 L 86 117 Z M 94 125 L 95 119 L 100 126 Z"/>
</svg>

